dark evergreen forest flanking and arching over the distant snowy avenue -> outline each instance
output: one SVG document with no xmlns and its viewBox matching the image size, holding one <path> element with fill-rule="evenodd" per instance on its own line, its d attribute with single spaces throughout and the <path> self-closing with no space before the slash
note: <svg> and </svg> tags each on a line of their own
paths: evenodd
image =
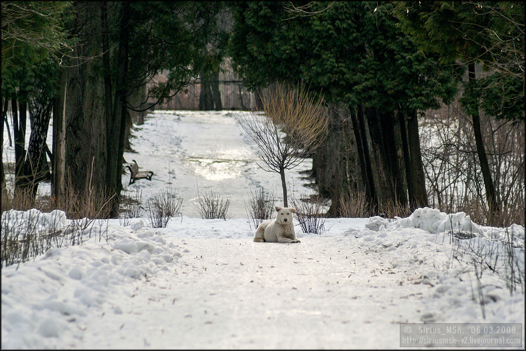
<svg viewBox="0 0 526 351">
<path fill-rule="evenodd" d="M 323 99 L 303 156 L 327 216 L 524 224 L 522 2 L 2 2 L 2 211 L 50 180 L 46 206 L 118 217 L 134 124 L 196 79 L 221 109 L 225 62 L 256 109 L 282 83 Z"/>
</svg>

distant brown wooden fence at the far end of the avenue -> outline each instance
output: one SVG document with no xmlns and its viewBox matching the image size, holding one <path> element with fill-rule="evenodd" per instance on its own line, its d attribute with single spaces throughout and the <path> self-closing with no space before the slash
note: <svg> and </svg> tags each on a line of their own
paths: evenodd
<svg viewBox="0 0 526 351">
<path fill-rule="evenodd" d="M 200 79 L 195 79 L 186 87 L 186 92 L 179 92 L 170 101 L 158 104 L 155 109 L 199 109 Z M 223 109 L 253 109 L 256 106 L 255 94 L 249 92 L 234 72 L 219 73 L 219 93 Z"/>
</svg>

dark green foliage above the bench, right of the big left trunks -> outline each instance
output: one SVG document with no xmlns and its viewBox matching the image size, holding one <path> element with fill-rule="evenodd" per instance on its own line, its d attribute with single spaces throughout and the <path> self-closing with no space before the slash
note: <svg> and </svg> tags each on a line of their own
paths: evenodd
<svg viewBox="0 0 526 351">
<path fill-rule="evenodd" d="M 177 93 L 200 70 L 219 68 L 227 33 L 217 25 L 221 2 L 133 2 L 129 54 L 129 86 L 150 82 L 168 71 L 149 96 L 163 101 Z M 206 46 L 209 50 L 204 50 Z"/>
</svg>

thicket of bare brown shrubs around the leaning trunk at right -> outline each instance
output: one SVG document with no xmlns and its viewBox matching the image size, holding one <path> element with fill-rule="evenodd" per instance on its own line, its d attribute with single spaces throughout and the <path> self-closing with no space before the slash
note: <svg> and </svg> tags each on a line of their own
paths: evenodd
<svg viewBox="0 0 526 351">
<path fill-rule="evenodd" d="M 501 212 L 489 216 L 471 118 L 458 99 L 420 120 L 429 204 L 446 213 L 465 212 L 478 224 L 524 224 L 524 122 L 480 117 Z"/>
</svg>

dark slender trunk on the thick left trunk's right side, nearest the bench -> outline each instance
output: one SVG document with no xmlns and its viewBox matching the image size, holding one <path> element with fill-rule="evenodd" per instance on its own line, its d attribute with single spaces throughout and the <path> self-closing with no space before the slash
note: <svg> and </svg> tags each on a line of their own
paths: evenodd
<svg viewBox="0 0 526 351">
<path fill-rule="evenodd" d="M 124 148 L 124 130 L 126 124 L 126 75 L 128 68 L 130 4 L 122 3 L 122 17 L 120 19 L 119 49 L 117 56 L 117 80 L 115 84 L 115 100 L 113 105 L 112 128 L 108 130 L 110 149 L 107 165 L 108 192 L 112 197 L 110 201 L 110 216 L 119 214 L 119 196 L 122 189 L 122 158 Z"/>
</svg>

